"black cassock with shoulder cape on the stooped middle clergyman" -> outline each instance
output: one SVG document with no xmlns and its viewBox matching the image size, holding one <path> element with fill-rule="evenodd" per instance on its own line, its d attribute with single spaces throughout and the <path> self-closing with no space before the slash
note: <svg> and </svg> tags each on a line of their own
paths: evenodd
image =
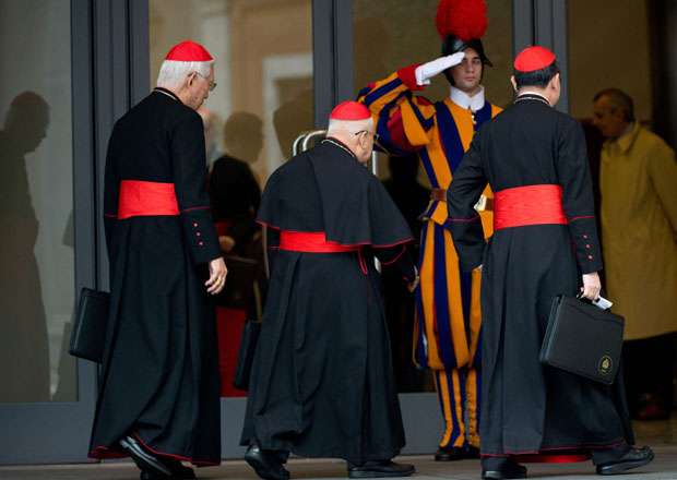
<svg viewBox="0 0 677 480">
<path fill-rule="evenodd" d="M 276 253 L 241 443 L 355 464 L 392 458 L 404 431 L 373 255 L 414 278 L 404 218 L 330 139 L 271 176 L 259 220 Z M 299 232 L 301 243 L 323 232 L 355 251 L 286 245 Z"/>
</svg>

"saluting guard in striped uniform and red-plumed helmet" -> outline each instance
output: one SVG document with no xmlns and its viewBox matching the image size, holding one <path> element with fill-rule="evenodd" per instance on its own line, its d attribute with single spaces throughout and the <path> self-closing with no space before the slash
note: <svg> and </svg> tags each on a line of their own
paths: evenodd
<svg viewBox="0 0 677 480">
<path fill-rule="evenodd" d="M 487 28 L 484 0 L 442 0 L 437 10 L 442 57 L 405 67 L 359 93 L 377 121 L 379 145 L 391 155 L 417 153 L 432 187 L 421 214 L 420 288 L 414 329 L 414 361 L 435 373 L 446 422 L 435 459 L 479 455 L 480 311 L 479 272 L 461 273 L 447 227 L 447 188 L 475 132 L 499 113 L 485 99 L 482 79 L 491 65 L 482 37 Z M 416 95 L 443 74 L 450 95 L 432 103 Z M 491 192 L 477 209 L 491 235 Z"/>
</svg>

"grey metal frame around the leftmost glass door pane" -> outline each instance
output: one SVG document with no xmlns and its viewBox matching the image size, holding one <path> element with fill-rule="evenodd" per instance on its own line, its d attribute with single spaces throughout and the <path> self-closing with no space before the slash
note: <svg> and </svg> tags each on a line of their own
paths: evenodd
<svg viewBox="0 0 677 480">
<path fill-rule="evenodd" d="M 71 1 L 71 95 L 75 291 L 96 288 L 93 5 Z M 5 365 L 7 367 L 7 365 Z M 78 401 L 0 404 L 0 465 L 85 461 L 96 368 L 79 360 Z"/>
</svg>

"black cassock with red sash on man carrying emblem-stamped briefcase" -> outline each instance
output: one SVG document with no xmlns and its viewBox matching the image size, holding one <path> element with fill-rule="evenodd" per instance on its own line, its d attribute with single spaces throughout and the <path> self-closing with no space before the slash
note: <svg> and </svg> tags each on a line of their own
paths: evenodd
<svg viewBox="0 0 677 480">
<path fill-rule="evenodd" d="M 561 187 L 568 224 L 497 229 L 486 245 L 473 205 L 487 182 L 497 197 L 507 189 Z M 555 296 L 577 295 L 581 274 L 602 268 L 581 125 L 539 96 L 519 97 L 475 135 L 448 202 L 462 268 L 484 264 L 483 455 L 633 443 L 620 375 L 607 387 L 538 361 Z M 525 217 L 538 207 L 528 205 Z"/>
</svg>

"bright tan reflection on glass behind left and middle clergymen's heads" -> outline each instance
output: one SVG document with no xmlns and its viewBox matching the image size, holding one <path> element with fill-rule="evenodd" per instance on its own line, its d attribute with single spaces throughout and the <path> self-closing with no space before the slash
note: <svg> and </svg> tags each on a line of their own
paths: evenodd
<svg viewBox="0 0 677 480">
<path fill-rule="evenodd" d="M 311 0 L 151 0 L 151 85 L 171 45 L 192 38 L 215 57 L 218 152 L 223 122 L 249 112 L 263 122 L 263 147 L 251 167 L 261 183 L 289 157 L 299 132 L 312 129 Z M 256 32 L 256 35 L 252 33 Z M 289 140 L 292 139 L 292 140 Z M 212 158 L 213 160 L 214 158 Z"/>
</svg>

